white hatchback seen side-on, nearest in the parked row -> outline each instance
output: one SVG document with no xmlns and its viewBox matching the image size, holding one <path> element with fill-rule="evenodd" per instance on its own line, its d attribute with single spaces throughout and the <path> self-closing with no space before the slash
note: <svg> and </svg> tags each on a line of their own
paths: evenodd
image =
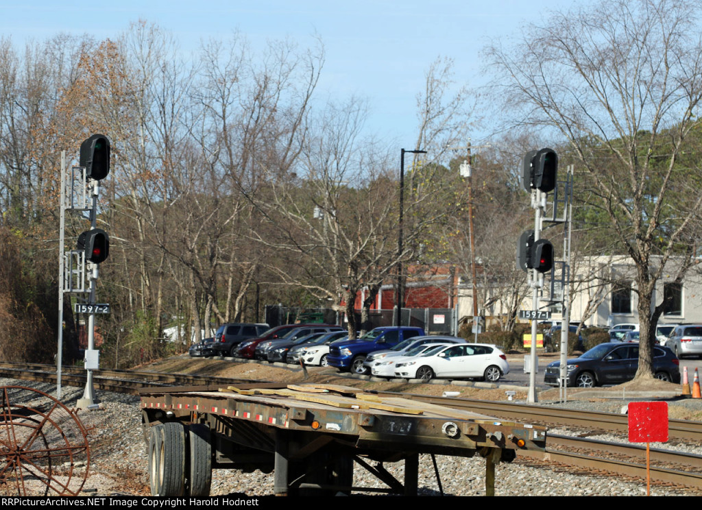
<svg viewBox="0 0 702 510">
<path fill-rule="evenodd" d="M 420 356 L 395 363 L 395 377 L 408 379 L 479 377 L 496 382 L 509 372 L 507 356 L 492 344 L 438 346 Z"/>
</svg>

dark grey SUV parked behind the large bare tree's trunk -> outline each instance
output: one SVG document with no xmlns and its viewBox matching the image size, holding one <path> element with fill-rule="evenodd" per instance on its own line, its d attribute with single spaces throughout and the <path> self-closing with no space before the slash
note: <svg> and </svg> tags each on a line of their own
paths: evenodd
<svg viewBox="0 0 702 510">
<path fill-rule="evenodd" d="M 609 342 L 592 347 L 578 358 L 567 361 L 567 384 L 581 388 L 621 384 L 634 378 L 639 368 L 637 344 Z M 558 386 L 560 361 L 546 366 L 543 380 Z M 654 347 L 654 374 L 657 379 L 680 383 L 680 360 L 668 347 Z"/>
</svg>

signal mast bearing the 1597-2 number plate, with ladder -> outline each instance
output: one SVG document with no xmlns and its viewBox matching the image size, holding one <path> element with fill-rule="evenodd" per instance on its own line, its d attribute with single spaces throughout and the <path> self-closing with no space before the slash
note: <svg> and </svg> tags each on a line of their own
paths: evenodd
<svg viewBox="0 0 702 510">
<path fill-rule="evenodd" d="M 93 390 L 93 370 L 99 368 L 99 351 L 95 349 L 95 312 L 107 313 L 107 304 L 97 304 L 95 287 L 98 267 L 110 255 L 110 236 L 97 227 L 100 181 L 110 173 L 110 139 L 92 135 L 81 143 L 79 166 L 67 168 L 66 154 L 61 154 L 61 207 L 59 241 L 59 324 L 56 393 L 61 396 L 62 323 L 64 294 L 77 296 L 76 313 L 88 314 L 88 349 L 85 353 L 86 387 L 78 408 L 90 408 L 97 403 Z M 82 215 L 90 221 L 90 229 L 78 236 L 76 248 L 65 250 L 66 213 Z M 87 216 L 86 216 L 87 213 Z"/>
</svg>

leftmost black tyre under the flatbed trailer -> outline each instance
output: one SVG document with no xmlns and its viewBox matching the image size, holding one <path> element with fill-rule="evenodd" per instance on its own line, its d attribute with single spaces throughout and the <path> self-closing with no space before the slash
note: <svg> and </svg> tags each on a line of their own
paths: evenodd
<svg viewBox="0 0 702 510">
<path fill-rule="evenodd" d="M 178 422 L 152 427 L 151 491 L 154 496 L 180 497 L 185 490 L 185 429 Z"/>
</svg>

